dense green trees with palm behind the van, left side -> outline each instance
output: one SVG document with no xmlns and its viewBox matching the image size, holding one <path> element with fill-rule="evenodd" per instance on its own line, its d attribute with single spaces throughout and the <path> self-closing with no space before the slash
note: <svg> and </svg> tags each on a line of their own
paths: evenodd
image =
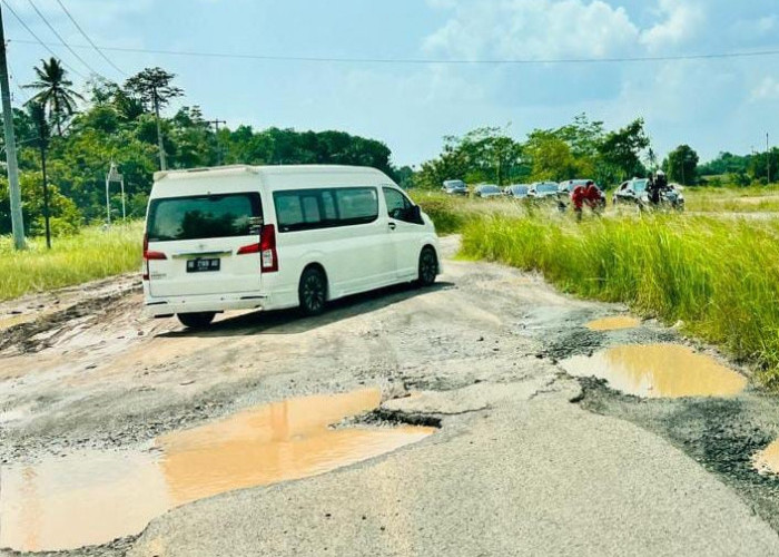
<svg viewBox="0 0 779 557">
<path fill-rule="evenodd" d="M 91 81 L 85 96 L 73 90 L 59 60 L 41 60 L 34 70 L 37 79 L 24 86 L 33 97 L 24 109 L 13 110 L 27 234 L 42 234 L 45 227 L 42 143 L 55 235 L 105 221 L 111 163 L 124 175 L 130 218 L 145 215 L 152 175 L 160 167 L 344 164 L 379 168 L 398 180 L 410 174 L 393 166 L 383 143 L 343 131 L 256 130 L 245 125 L 217 131 L 195 105 L 166 116 L 170 101 L 185 91 L 161 68 L 147 68 L 125 84 Z M 112 192 L 110 205 L 120 217 L 119 192 Z M 10 231 L 8 178 L 2 173 L 0 234 Z"/>
</svg>

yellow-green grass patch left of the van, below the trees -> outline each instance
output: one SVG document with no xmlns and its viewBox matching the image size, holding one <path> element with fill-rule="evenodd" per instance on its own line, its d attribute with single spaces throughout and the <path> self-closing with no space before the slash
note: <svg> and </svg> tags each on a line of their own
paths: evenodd
<svg viewBox="0 0 779 557">
<path fill-rule="evenodd" d="M 11 238 L 0 237 L 0 300 L 139 271 L 142 235 L 142 223 L 109 231 L 88 227 L 52 238 L 51 251 L 34 238 L 23 252 L 13 251 Z"/>
</svg>

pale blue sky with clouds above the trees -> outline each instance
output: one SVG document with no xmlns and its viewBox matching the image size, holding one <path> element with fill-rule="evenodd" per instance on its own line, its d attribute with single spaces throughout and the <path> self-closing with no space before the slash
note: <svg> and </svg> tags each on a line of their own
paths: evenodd
<svg viewBox="0 0 779 557">
<path fill-rule="evenodd" d="M 7 0 L 56 41 L 28 0 Z M 56 0 L 33 0 L 72 45 Z M 324 58 L 603 59 L 779 50 L 779 0 L 62 0 L 101 46 Z M 3 8 L 17 82 L 47 57 Z M 63 60 L 88 70 L 62 47 Z M 96 52 L 76 49 L 120 80 Z M 187 105 L 230 126 L 343 129 L 420 164 L 442 137 L 510 126 L 522 138 L 585 111 L 609 127 L 647 120 L 653 147 L 703 159 L 779 145 L 779 56 L 629 63 L 315 63 L 107 52 L 127 74 L 176 72 Z M 81 79 L 75 78 L 78 84 Z M 21 94 L 16 90 L 17 101 Z"/>
</svg>

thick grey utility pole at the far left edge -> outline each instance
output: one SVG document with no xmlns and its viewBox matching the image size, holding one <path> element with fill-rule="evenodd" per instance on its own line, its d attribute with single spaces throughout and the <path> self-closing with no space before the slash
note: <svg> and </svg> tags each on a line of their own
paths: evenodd
<svg viewBox="0 0 779 557">
<path fill-rule="evenodd" d="M 8 60 L 6 58 L 6 31 L 0 9 L 0 96 L 2 96 L 2 119 L 6 130 L 6 160 L 8 163 L 8 183 L 11 198 L 11 227 L 13 246 L 27 247 L 24 242 L 24 218 L 21 214 L 21 189 L 19 187 L 19 164 L 17 163 L 17 139 L 13 133 L 13 111 L 11 109 L 11 89 L 8 85 Z"/>
</svg>

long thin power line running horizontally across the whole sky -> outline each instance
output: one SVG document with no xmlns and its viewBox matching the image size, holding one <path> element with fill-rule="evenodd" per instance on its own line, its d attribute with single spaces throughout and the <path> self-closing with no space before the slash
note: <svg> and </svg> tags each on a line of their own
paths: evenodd
<svg viewBox="0 0 779 557">
<path fill-rule="evenodd" d="M 6 0 L 2 0 L 3 2 Z M 16 42 L 31 43 L 31 41 L 17 40 Z M 63 43 L 50 43 L 52 46 L 66 46 Z M 72 48 L 91 48 L 86 45 L 67 45 Z M 144 48 L 121 48 L 121 47 L 99 47 L 101 50 L 112 52 L 128 52 L 141 55 L 168 55 L 168 56 L 187 56 L 199 58 L 227 58 L 239 60 L 266 60 L 266 61 L 285 61 L 285 62 L 333 62 L 333 63 L 385 63 L 385 65 L 458 65 L 458 66 L 479 66 L 479 65 L 544 65 L 544 63 L 625 63 L 625 62 L 658 62 L 658 61 L 679 61 L 679 60 L 712 60 L 712 59 L 729 59 L 729 58 L 760 58 L 769 56 L 779 56 L 779 49 L 776 50 L 758 50 L 752 52 L 714 52 L 703 55 L 678 55 L 678 56 L 645 56 L 645 57 L 620 57 L 620 58 L 549 58 L 549 59 L 434 59 L 434 58 L 331 58 L 331 57 L 307 57 L 307 56 L 269 56 L 269 55 L 252 55 L 252 53 L 228 53 L 228 52 L 205 52 L 191 50 L 154 50 Z"/>
</svg>

